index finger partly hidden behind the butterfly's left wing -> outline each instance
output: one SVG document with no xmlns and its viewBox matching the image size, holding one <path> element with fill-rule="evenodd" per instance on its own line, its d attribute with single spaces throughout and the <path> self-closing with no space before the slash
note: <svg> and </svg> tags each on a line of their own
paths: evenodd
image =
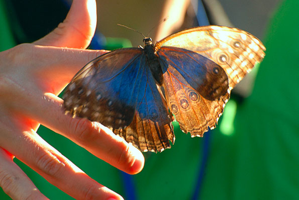
<svg viewBox="0 0 299 200">
<path fill-rule="evenodd" d="M 43 58 L 34 63 L 34 66 L 39 69 L 36 72 L 36 81 L 39 81 L 37 85 L 43 86 L 43 91 L 55 95 L 58 95 L 71 78 L 89 61 L 108 52 L 42 46 L 33 48 L 34 56 Z"/>
</svg>

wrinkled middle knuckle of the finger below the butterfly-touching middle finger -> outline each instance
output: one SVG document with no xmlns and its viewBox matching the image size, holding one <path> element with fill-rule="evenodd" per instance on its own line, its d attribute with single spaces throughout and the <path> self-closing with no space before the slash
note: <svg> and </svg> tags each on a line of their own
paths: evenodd
<svg viewBox="0 0 299 200">
<path fill-rule="evenodd" d="M 37 155 L 37 167 L 41 169 L 47 175 L 52 177 L 60 177 L 65 163 L 61 161 L 53 152 L 44 151 L 40 155 Z"/>
</svg>

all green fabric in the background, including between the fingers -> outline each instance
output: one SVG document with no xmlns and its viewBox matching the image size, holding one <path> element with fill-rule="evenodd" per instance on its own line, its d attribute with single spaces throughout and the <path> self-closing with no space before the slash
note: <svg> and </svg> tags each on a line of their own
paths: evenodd
<svg viewBox="0 0 299 200">
<path fill-rule="evenodd" d="M 273 18 L 266 57 L 253 94 L 238 105 L 234 132 L 223 134 L 218 126 L 212 133 L 199 199 L 299 199 L 298 9 L 299 1 L 287 0 Z M 119 170 L 44 127 L 38 133 L 96 181 L 125 195 Z M 190 138 L 177 126 L 175 135 L 170 150 L 144 154 L 144 169 L 133 176 L 138 200 L 190 199 L 203 138 Z M 50 199 L 73 199 L 16 162 Z M 0 191 L 0 199 L 10 198 Z"/>
</svg>

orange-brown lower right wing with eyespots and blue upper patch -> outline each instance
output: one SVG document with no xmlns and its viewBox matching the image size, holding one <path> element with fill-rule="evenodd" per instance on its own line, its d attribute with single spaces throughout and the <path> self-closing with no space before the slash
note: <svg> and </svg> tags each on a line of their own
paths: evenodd
<svg viewBox="0 0 299 200">
<path fill-rule="evenodd" d="M 228 76 L 215 62 L 192 51 L 161 47 L 165 96 L 184 132 L 203 136 L 213 129 L 229 99 Z"/>
</svg>

